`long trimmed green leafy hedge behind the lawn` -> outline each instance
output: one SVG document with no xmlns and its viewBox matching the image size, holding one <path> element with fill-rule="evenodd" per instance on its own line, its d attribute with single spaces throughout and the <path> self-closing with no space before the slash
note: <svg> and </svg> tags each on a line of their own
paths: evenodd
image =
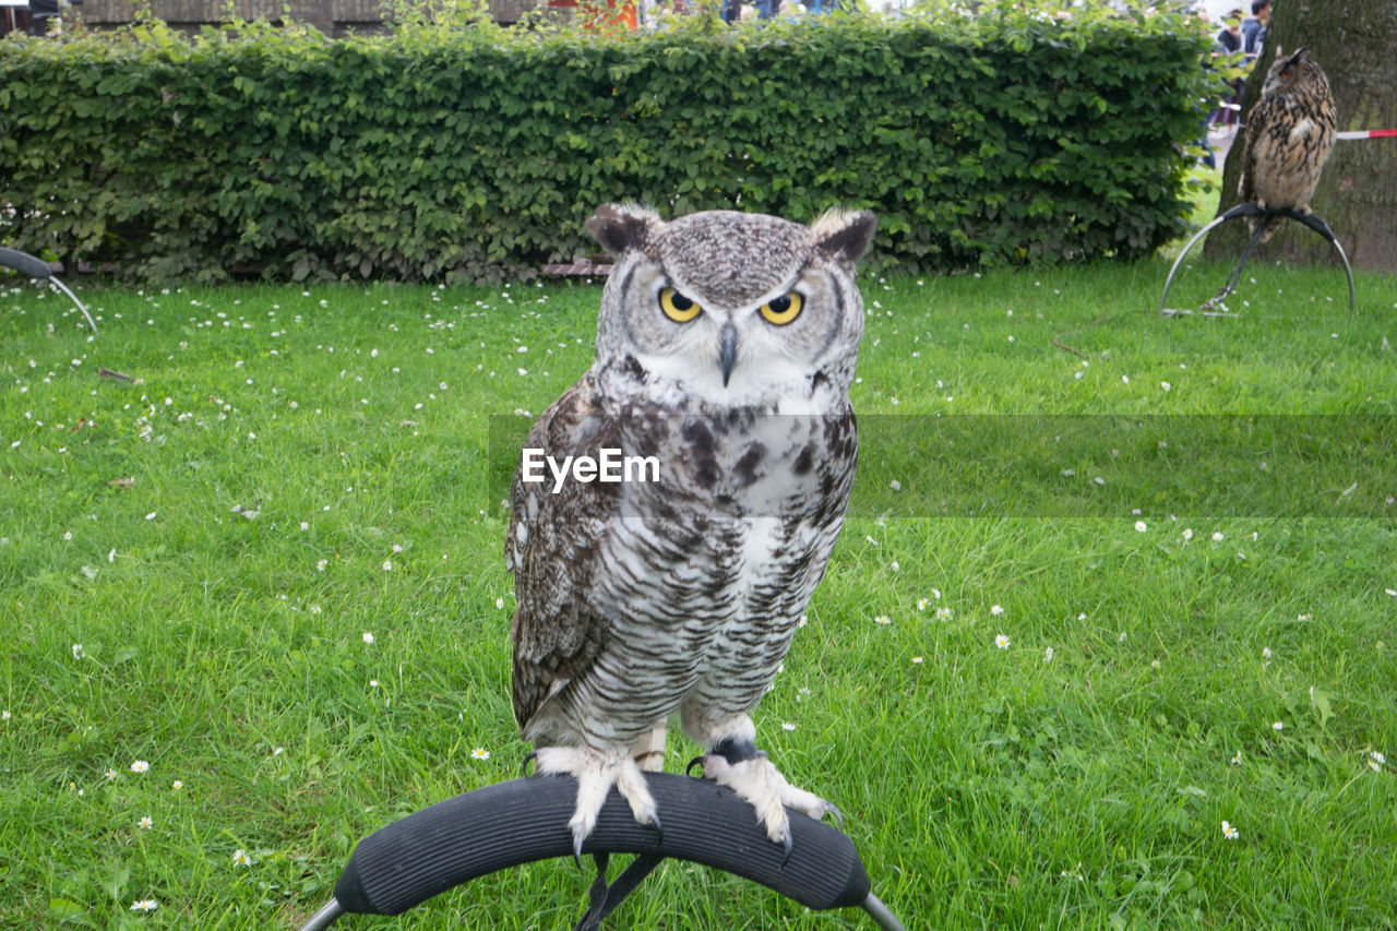
<svg viewBox="0 0 1397 931">
<path fill-rule="evenodd" d="M 1185 228 L 1186 22 L 13 38 L 0 242 L 142 280 L 486 278 L 592 250 L 629 197 L 872 207 L 883 270 L 1139 256 Z"/>
</svg>

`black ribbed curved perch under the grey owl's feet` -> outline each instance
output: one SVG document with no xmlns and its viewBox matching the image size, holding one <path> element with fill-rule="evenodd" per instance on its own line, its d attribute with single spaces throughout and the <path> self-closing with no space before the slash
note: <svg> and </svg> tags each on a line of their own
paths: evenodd
<svg viewBox="0 0 1397 931">
<path fill-rule="evenodd" d="M 905 931 L 870 890 L 854 842 L 798 812 L 791 815 L 791 858 L 756 822 L 752 805 L 704 779 L 647 773 L 645 784 L 664 812 L 661 837 L 636 823 L 613 790 L 597 829 L 583 844 L 598 876 L 591 904 L 574 931 L 595 931 L 640 881 L 665 857 L 722 869 L 799 902 L 823 909 L 859 906 L 884 931 Z M 577 802 L 577 781 L 528 776 L 486 786 L 423 808 L 355 847 L 335 895 L 300 931 L 328 928 L 345 913 L 401 914 L 462 882 L 535 860 L 573 856 L 567 821 Z M 637 854 L 610 885 L 606 860 Z"/>
</svg>

